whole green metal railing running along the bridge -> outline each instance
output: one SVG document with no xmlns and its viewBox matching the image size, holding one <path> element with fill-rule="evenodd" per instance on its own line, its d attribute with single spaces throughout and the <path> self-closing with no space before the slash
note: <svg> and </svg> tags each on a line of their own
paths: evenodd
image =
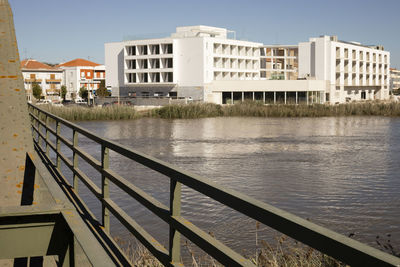
<svg viewBox="0 0 400 267">
<path fill-rule="evenodd" d="M 226 189 L 206 178 L 181 170 L 171 164 L 126 148 L 113 141 L 98 137 L 94 133 L 61 119 L 34 105 L 29 105 L 32 130 L 36 148 L 61 171 L 61 161 L 73 172 L 72 187 L 78 191 L 78 180 L 102 203 L 102 225 L 110 231 L 110 214 L 113 214 L 161 263 L 166 266 L 182 266 L 180 235 L 199 246 L 220 263 L 227 266 L 255 266 L 208 233 L 196 227 L 181 216 L 181 185 L 188 186 L 224 205 L 235 209 L 267 226 L 270 226 L 322 253 L 330 255 L 351 266 L 400 266 L 400 258 L 364 245 L 346 236 L 318 226 L 293 214 L 248 197 L 234 190 Z M 55 129 L 49 120 L 55 121 Z M 72 142 L 61 135 L 61 125 L 72 130 Z M 43 133 L 43 130 L 45 133 Z M 55 136 L 52 143 L 49 134 Z M 78 135 L 83 135 L 101 146 L 101 161 L 79 147 Z M 45 143 L 42 143 L 45 142 Z M 61 142 L 73 152 L 73 160 L 61 152 Z M 43 144 L 45 149 L 43 149 Z M 56 154 L 56 162 L 50 159 L 50 149 Z M 112 150 L 170 178 L 170 205 L 160 203 L 152 196 L 127 181 L 109 168 L 109 151 Z M 102 176 L 101 188 L 79 169 L 78 157 L 89 163 Z M 156 216 L 169 224 L 169 250 L 147 233 L 135 220 L 123 211 L 109 195 L 109 184 L 113 183 Z"/>
</svg>

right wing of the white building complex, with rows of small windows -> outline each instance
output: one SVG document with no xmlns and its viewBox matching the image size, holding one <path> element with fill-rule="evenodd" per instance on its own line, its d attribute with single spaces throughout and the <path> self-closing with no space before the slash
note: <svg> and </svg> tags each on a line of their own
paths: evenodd
<svg viewBox="0 0 400 267">
<path fill-rule="evenodd" d="M 299 44 L 299 77 L 327 81 L 326 101 L 389 98 L 390 53 L 382 46 L 310 38 Z"/>
</svg>

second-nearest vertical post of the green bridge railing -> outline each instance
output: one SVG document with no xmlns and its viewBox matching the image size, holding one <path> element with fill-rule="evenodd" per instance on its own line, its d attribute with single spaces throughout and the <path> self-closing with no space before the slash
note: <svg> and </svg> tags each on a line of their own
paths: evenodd
<svg viewBox="0 0 400 267">
<path fill-rule="evenodd" d="M 103 170 L 110 167 L 110 151 L 105 145 L 101 145 L 101 167 Z M 107 209 L 104 199 L 110 198 L 110 189 L 108 185 L 108 178 L 105 175 L 101 175 L 101 193 L 103 197 L 102 202 L 102 217 L 103 226 L 107 233 L 110 232 L 110 212 Z"/>
</svg>

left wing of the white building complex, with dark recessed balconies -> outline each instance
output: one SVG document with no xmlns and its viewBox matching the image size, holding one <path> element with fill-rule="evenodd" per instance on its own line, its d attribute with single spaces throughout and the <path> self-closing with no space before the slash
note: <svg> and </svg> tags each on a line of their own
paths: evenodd
<svg viewBox="0 0 400 267">
<path fill-rule="evenodd" d="M 260 43 L 222 28 L 178 27 L 171 37 L 105 44 L 107 86 L 121 95 L 204 100 L 212 81 L 259 80 Z"/>
</svg>

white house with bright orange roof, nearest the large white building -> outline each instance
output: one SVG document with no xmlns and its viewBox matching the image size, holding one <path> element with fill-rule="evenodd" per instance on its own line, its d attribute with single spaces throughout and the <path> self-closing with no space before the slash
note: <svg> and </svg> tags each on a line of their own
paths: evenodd
<svg viewBox="0 0 400 267">
<path fill-rule="evenodd" d="M 105 66 L 85 59 L 74 59 L 57 66 L 64 74 L 67 87 L 66 99 L 79 98 L 79 90 L 84 87 L 89 91 L 89 98 L 105 80 Z"/>
</svg>

